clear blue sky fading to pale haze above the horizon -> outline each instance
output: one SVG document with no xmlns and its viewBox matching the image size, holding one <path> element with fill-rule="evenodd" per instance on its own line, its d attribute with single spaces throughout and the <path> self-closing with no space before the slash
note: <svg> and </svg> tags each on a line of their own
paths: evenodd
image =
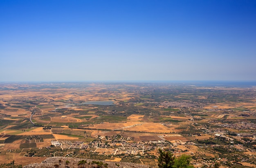
<svg viewBox="0 0 256 168">
<path fill-rule="evenodd" d="M 256 81 L 256 0 L 0 0 L 0 82 Z"/>
</svg>

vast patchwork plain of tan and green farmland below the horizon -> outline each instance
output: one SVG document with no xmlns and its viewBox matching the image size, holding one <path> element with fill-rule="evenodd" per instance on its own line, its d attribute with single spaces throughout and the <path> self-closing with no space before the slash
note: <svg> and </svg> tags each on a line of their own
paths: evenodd
<svg viewBox="0 0 256 168">
<path fill-rule="evenodd" d="M 61 156 L 155 167 L 162 148 L 201 166 L 218 158 L 256 166 L 255 97 L 256 86 L 0 84 L 0 162 Z"/>
</svg>

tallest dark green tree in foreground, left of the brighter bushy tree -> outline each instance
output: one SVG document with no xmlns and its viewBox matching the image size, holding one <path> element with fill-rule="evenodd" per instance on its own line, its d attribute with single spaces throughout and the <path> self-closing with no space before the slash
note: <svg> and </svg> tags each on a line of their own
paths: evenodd
<svg viewBox="0 0 256 168">
<path fill-rule="evenodd" d="M 158 167 L 159 168 L 172 168 L 174 165 L 175 157 L 170 151 L 163 151 L 159 149 Z"/>
</svg>

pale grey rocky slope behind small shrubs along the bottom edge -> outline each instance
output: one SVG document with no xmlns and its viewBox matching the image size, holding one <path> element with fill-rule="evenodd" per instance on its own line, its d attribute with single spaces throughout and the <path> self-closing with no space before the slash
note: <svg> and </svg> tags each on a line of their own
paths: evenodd
<svg viewBox="0 0 256 168">
<path fill-rule="evenodd" d="M 61 162 L 60 162 L 61 160 Z M 78 168 L 78 163 L 83 159 L 78 158 L 70 158 L 70 157 L 51 157 L 47 158 L 42 163 L 38 164 L 29 164 L 27 166 L 24 166 L 23 168 L 55 168 L 58 165 L 58 168 L 67 168 L 66 166 L 70 168 Z M 86 161 L 86 164 L 84 164 L 85 168 L 97 168 L 97 164 L 95 164 L 96 161 L 94 161 L 94 164 L 92 164 L 93 160 L 91 159 L 84 159 Z M 66 161 L 69 161 L 69 164 L 65 164 Z M 103 162 L 103 164 L 108 165 L 108 168 L 150 168 L 150 166 L 147 165 L 141 165 L 141 164 L 133 164 L 133 163 L 127 163 L 127 162 L 114 162 L 114 161 L 98 161 Z M 102 166 L 104 168 L 104 166 Z"/>
</svg>

